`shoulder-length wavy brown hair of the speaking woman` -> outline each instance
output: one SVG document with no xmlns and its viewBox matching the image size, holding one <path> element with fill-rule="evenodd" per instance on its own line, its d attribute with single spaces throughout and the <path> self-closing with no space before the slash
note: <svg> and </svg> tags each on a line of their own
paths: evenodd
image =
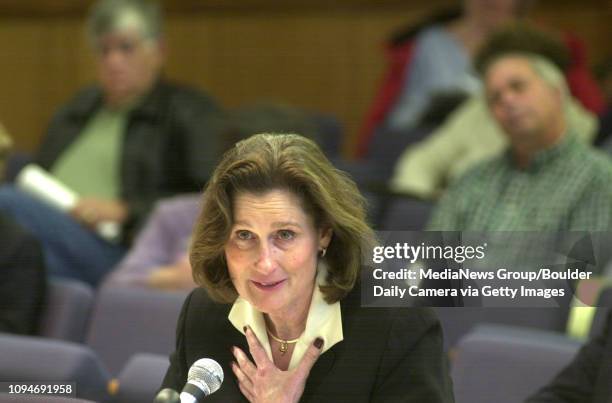
<svg viewBox="0 0 612 403">
<path fill-rule="evenodd" d="M 236 299 L 224 253 L 233 226 L 233 201 L 240 193 L 261 195 L 271 190 L 292 192 L 317 229 L 333 230 L 324 257 L 327 285 L 321 292 L 328 303 L 339 301 L 355 285 L 374 234 L 355 183 L 329 162 L 316 143 L 297 134 L 256 134 L 225 153 L 204 192 L 194 226 L 190 250 L 194 280 L 218 302 Z"/>
</svg>

